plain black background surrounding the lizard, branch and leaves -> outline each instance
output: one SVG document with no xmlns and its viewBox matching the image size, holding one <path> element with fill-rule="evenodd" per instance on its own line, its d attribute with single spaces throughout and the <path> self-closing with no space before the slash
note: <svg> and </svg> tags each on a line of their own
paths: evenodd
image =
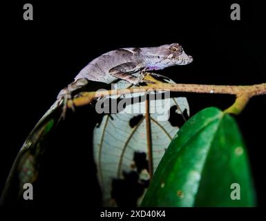
<svg viewBox="0 0 266 221">
<path fill-rule="evenodd" d="M 263 6 L 239 1 L 241 20 L 231 21 L 235 2 L 220 2 L 29 1 L 6 6 L 1 33 L 0 192 L 23 141 L 59 90 L 108 50 L 178 42 L 193 63 L 160 71 L 178 83 L 266 82 Z M 33 4 L 33 21 L 23 20 L 24 3 Z M 234 102 L 229 95 L 185 95 L 192 115 L 207 106 L 227 108 Z M 48 150 L 35 206 L 100 204 L 91 150 L 98 119 L 90 106 L 76 113 L 68 113 Z M 258 206 L 265 206 L 265 113 L 266 99 L 260 96 L 236 117 L 247 144 Z"/>
</svg>

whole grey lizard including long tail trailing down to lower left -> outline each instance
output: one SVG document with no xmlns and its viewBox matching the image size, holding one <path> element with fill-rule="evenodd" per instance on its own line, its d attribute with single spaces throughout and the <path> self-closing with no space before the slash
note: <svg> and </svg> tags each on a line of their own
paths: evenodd
<svg viewBox="0 0 266 221">
<path fill-rule="evenodd" d="M 149 84 L 151 82 L 144 80 L 145 71 L 190 64 L 192 61 L 193 58 L 184 52 L 180 44 L 166 44 L 150 48 L 121 48 L 106 52 L 104 55 L 93 59 L 78 73 L 73 83 L 68 84 L 66 88 L 59 92 L 57 101 L 41 117 L 35 128 L 33 128 L 12 166 L 5 189 L 1 195 L 1 204 L 8 200 L 10 182 L 18 170 L 18 165 L 21 163 L 21 156 L 23 157 L 25 153 L 28 153 L 26 151 L 35 149 L 39 144 L 43 131 L 46 131 L 48 124 L 50 125 L 49 115 L 53 113 L 55 108 L 59 108 L 62 99 L 64 100 L 64 107 L 61 117 L 64 118 L 66 102 L 71 99 L 71 93 L 86 86 L 88 81 L 100 81 L 111 84 L 117 79 L 122 79 L 134 85 L 142 82 Z M 37 152 L 36 154 L 38 155 L 42 151 Z"/>
</svg>

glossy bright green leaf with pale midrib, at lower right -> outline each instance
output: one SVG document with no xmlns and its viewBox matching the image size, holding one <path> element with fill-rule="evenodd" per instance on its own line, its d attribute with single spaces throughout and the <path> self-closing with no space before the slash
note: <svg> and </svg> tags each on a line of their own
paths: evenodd
<svg viewBox="0 0 266 221">
<path fill-rule="evenodd" d="M 240 185 L 240 200 L 236 187 Z M 233 117 L 207 108 L 180 128 L 142 206 L 255 206 L 247 151 Z"/>
</svg>

